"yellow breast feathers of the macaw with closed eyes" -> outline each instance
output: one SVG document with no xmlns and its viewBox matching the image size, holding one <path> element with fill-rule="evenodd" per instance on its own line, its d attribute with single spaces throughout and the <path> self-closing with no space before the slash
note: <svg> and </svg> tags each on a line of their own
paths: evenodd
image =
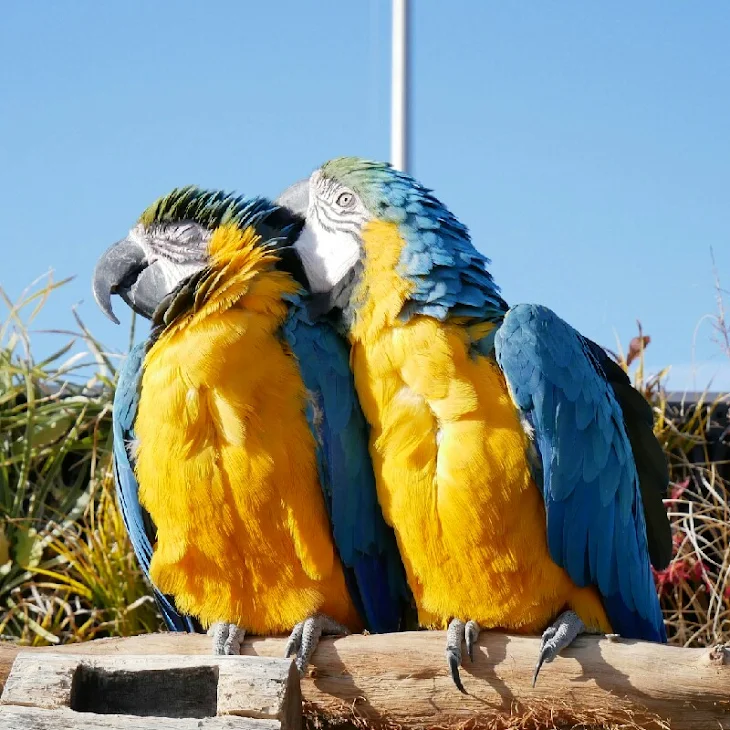
<svg viewBox="0 0 730 730">
<path fill-rule="evenodd" d="M 145 359 L 137 476 L 158 530 L 151 577 L 205 625 L 272 633 L 323 611 L 357 629 L 304 385 L 277 337 L 296 285 L 254 244 L 233 226 L 214 233 L 205 301 Z"/>
</svg>

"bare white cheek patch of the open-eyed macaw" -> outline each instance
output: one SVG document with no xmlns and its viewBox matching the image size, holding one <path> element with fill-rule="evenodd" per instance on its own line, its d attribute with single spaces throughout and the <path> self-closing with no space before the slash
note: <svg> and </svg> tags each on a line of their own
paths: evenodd
<svg viewBox="0 0 730 730">
<path fill-rule="evenodd" d="M 325 230 L 314 215 L 308 217 L 294 246 L 315 293 L 332 289 L 360 258 L 352 236 Z"/>
</svg>

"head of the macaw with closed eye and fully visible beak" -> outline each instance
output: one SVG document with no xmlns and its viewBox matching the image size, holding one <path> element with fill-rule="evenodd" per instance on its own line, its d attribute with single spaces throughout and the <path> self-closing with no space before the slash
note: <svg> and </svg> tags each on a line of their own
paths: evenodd
<svg viewBox="0 0 730 730">
<path fill-rule="evenodd" d="M 94 298 L 117 324 L 112 294 L 152 319 L 184 282 L 242 264 L 252 251 L 265 253 L 267 263 L 287 269 L 306 286 L 291 245 L 303 224 L 301 215 L 265 198 L 194 186 L 176 188 L 147 208 L 127 236 L 99 259 Z"/>
</svg>

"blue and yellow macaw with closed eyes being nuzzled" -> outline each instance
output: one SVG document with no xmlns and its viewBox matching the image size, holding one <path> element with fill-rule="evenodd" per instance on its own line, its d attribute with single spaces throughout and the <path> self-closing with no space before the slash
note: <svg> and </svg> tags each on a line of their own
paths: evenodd
<svg viewBox="0 0 730 730">
<path fill-rule="evenodd" d="M 94 294 L 152 320 L 113 409 L 122 513 L 170 629 L 399 628 L 408 590 L 382 518 L 344 340 L 312 323 L 285 206 L 176 189 L 100 259 Z"/>
</svg>

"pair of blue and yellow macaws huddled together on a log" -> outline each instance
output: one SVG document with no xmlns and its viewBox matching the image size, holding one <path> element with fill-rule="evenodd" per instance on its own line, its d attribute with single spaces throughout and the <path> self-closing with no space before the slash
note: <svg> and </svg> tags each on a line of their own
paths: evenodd
<svg viewBox="0 0 730 730">
<path fill-rule="evenodd" d="M 333 160 L 280 203 L 175 191 L 95 274 L 105 311 L 117 292 L 153 321 L 115 463 L 171 627 L 226 651 L 292 631 L 302 669 L 323 630 L 400 628 L 407 583 L 462 691 L 482 628 L 543 632 L 535 678 L 580 632 L 664 640 L 667 467 L 621 368 L 509 308 L 385 163 Z"/>
</svg>

